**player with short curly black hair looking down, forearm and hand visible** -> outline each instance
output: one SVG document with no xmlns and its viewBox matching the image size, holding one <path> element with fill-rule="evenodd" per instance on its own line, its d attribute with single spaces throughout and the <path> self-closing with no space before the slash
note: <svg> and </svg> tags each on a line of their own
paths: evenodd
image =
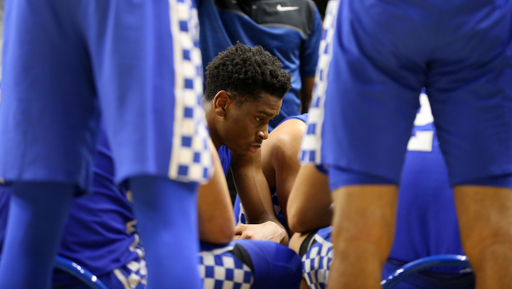
<svg viewBox="0 0 512 289">
<path fill-rule="evenodd" d="M 250 226 L 237 227 L 242 239 L 288 244 L 261 170 L 261 143 L 268 122 L 290 88 L 290 75 L 261 47 L 240 43 L 220 53 L 206 68 L 205 111 L 221 162 L 230 165 Z M 235 216 L 237 218 L 237 216 Z"/>
</svg>

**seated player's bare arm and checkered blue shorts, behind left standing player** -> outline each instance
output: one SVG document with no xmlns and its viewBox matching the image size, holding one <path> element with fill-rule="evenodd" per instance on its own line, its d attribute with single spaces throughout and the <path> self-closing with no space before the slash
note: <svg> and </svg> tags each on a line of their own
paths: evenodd
<svg viewBox="0 0 512 289">
<path fill-rule="evenodd" d="M 212 144 L 213 147 L 213 144 Z M 297 288 L 302 279 L 300 257 L 288 247 L 272 241 L 231 242 L 234 217 L 221 164 L 214 155 L 215 171 L 199 189 L 199 274 L 205 289 Z"/>
</svg>

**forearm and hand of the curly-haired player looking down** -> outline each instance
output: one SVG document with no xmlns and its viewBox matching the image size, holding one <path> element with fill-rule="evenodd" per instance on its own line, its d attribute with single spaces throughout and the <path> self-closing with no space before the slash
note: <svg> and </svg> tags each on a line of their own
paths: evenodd
<svg viewBox="0 0 512 289">
<path fill-rule="evenodd" d="M 267 223 L 261 226 L 260 232 L 258 227 L 239 225 L 236 228 L 236 234 L 241 235 L 240 238 L 250 239 L 269 240 L 271 237 L 272 241 L 287 244 L 288 234 L 274 212 L 268 183 L 261 170 L 261 150 L 244 156 L 233 154 L 231 169 L 247 223 L 263 225 L 266 222 L 272 222 L 278 225 Z M 250 230 L 250 235 L 244 235 L 245 230 Z M 272 230 L 271 234 L 269 230 Z"/>
</svg>

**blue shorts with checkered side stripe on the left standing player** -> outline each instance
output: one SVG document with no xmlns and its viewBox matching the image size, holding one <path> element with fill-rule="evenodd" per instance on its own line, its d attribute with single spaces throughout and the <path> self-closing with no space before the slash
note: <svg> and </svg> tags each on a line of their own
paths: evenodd
<svg viewBox="0 0 512 289">
<path fill-rule="evenodd" d="M 9 1 L 0 178 L 87 191 L 100 116 L 116 182 L 212 172 L 192 0 Z"/>
</svg>

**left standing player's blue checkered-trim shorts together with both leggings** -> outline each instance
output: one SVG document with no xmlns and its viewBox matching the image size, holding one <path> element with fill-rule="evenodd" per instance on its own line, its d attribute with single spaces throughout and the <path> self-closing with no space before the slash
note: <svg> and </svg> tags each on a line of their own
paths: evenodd
<svg viewBox="0 0 512 289">
<path fill-rule="evenodd" d="M 152 286 L 199 288 L 195 193 L 213 166 L 194 0 L 5 4 L 0 178 L 13 194 L 0 286 L 50 285 L 73 193 L 92 185 L 101 116 Z"/>
</svg>

